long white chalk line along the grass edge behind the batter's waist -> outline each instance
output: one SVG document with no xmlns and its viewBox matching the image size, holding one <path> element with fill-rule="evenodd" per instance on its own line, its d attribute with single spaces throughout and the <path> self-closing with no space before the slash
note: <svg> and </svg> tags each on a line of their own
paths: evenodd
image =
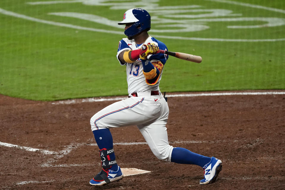
<svg viewBox="0 0 285 190">
<path fill-rule="evenodd" d="M 198 94 L 167 94 L 167 97 L 197 97 L 197 96 L 233 96 L 233 95 L 282 95 L 284 92 L 222 92 L 222 93 L 198 93 Z M 104 102 L 104 101 L 119 101 L 126 99 L 126 97 L 113 97 L 113 98 L 84 98 L 84 99 L 71 99 L 60 100 L 52 102 L 52 105 L 60 104 L 77 104 L 83 102 Z"/>
</svg>

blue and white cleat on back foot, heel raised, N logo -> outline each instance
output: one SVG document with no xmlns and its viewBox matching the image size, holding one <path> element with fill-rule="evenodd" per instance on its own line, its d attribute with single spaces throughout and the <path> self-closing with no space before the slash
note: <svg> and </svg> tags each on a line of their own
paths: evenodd
<svg viewBox="0 0 285 190">
<path fill-rule="evenodd" d="M 214 183 L 222 170 L 222 161 L 216 159 L 215 157 L 211 158 L 211 161 L 206 164 L 204 167 L 204 179 L 200 181 L 201 185 Z"/>
</svg>

